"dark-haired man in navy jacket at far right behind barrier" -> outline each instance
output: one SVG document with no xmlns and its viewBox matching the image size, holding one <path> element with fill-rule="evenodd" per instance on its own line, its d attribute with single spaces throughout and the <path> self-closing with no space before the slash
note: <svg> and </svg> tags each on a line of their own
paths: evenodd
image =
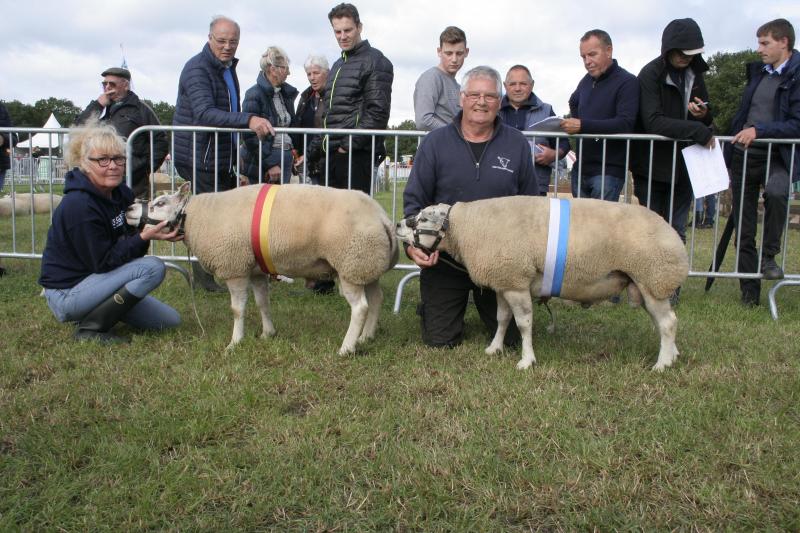
<svg viewBox="0 0 800 533">
<path fill-rule="evenodd" d="M 783 278 L 775 256 L 781 251 L 791 182 L 800 179 L 797 145 L 768 146 L 756 139 L 800 138 L 800 52 L 794 48 L 794 27 L 786 19 L 763 24 L 756 31 L 760 62 L 747 65 L 747 86 L 733 117 L 730 156 L 733 217 L 739 224 L 739 272 L 756 272 L 758 199 L 764 190 L 764 279 Z M 747 163 L 745 166 L 745 154 Z M 791 172 L 791 175 L 790 175 Z M 743 199 L 742 199 L 743 196 Z M 741 199 L 742 219 L 738 220 Z M 761 280 L 739 281 L 742 303 L 759 304 Z"/>
</svg>

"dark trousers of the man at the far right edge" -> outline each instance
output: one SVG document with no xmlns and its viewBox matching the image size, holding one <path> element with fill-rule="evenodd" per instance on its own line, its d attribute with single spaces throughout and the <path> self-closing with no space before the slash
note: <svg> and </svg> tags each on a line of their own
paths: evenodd
<svg viewBox="0 0 800 533">
<path fill-rule="evenodd" d="M 776 150 L 773 147 L 773 152 Z M 762 255 L 775 256 L 781 251 L 781 237 L 786 225 L 786 209 L 789 203 L 789 171 L 781 157 L 773 153 L 767 177 L 766 154 L 747 154 L 747 168 L 744 168 L 744 152 L 734 149 L 731 159 L 731 189 L 733 191 L 733 219 L 736 222 L 736 242 L 739 246 L 739 272 L 758 272 L 758 251 L 756 249 L 756 226 L 758 224 L 758 198 L 764 189 L 764 248 Z M 766 183 L 765 183 L 766 182 Z M 743 193 L 744 191 L 744 193 Z M 744 194 L 744 196 L 743 196 Z M 739 206 L 742 206 L 741 227 L 739 226 Z M 739 229 L 740 228 L 740 229 Z M 758 295 L 761 280 L 743 279 L 739 281 L 742 293 Z"/>
</svg>

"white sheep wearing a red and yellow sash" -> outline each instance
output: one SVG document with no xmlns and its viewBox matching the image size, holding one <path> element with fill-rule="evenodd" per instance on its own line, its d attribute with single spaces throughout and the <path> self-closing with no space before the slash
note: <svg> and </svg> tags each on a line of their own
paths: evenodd
<svg viewBox="0 0 800 533">
<path fill-rule="evenodd" d="M 340 354 L 372 338 L 383 294 L 378 279 L 397 262 L 394 228 L 383 208 L 360 191 L 313 185 L 280 185 L 269 216 L 269 256 L 279 274 L 339 280 L 350 304 L 350 326 Z M 148 204 L 151 221 L 175 220 L 185 206 L 185 242 L 205 270 L 224 280 L 233 310 L 232 348 L 244 336 L 247 288 L 261 312 L 262 338 L 275 334 L 269 313 L 268 278 L 251 244 L 254 206 L 261 185 L 189 196 L 190 186 Z M 127 212 L 139 225 L 142 202 Z"/>
</svg>

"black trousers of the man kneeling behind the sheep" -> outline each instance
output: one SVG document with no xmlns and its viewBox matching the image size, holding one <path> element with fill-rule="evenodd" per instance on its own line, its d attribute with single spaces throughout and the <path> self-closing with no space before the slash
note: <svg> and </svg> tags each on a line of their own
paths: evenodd
<svg viewBox="0 0 800 533">
<path fill-rule="evenodd" d="M 454 260 L 445 256 L 449 261 Z M 421 302 L 417 314 L 421 319 L 422 340 L 428 346 L 453 347 L 464 340 L 464 314 L 469 293 L 486 325 L 490 338 L 497 330 L 497 295 L 490 289 L 475 285 L 466 272 L 444 263 L 423 268 L 419 280 Z M 516 323 L 512 320 L 506 332 L 505 344 L 521 341 Z"/>
</svg>

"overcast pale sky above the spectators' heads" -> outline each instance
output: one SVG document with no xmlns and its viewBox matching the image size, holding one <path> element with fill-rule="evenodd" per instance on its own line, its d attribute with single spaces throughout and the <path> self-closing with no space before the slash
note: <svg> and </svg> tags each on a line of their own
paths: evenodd
<svg viewBox="0 0 800 533">
<path fill-rule="evenodd" d="M 288 82 L 303 90 L 309 53 L 321 53 L 331 63 L 338 57 L 327 19 L 333 5 L 331 0 L 0 0 L 0 99 L 33 103 L 54 96 L 83 108 L 100 93 L 100 73 L 120 65 L 122 44 L 134 91 L 174 104 L 180 71 L 205 44 L 216 14 L 242 28 L 237 52 L 242 93 L 255 83 L 258 60 L 270 45 L 288 52 Z M 756 28 L 774 18 L 800 28 L 797 0 L 360 0 L 355 5 L 362 36 L 394 64 L 391 125 L 414 118 L 414 82 L 437 63 L 439 34 L 448 25 L 466 32 L 470 48 L 459 78 L 477 65 L 505 75 L 511 65 L 525 64 L 533 72 L 534 92 L 557 114 L 567 112 L 569 95 L 585 74 L 578 40 L 586 30 L 608 31 L 614 57 L 637 74 L 659 54 L 661 32 L 675 18 L 698 22 L 706 56 L 755 48 Z"/>
</svg>

